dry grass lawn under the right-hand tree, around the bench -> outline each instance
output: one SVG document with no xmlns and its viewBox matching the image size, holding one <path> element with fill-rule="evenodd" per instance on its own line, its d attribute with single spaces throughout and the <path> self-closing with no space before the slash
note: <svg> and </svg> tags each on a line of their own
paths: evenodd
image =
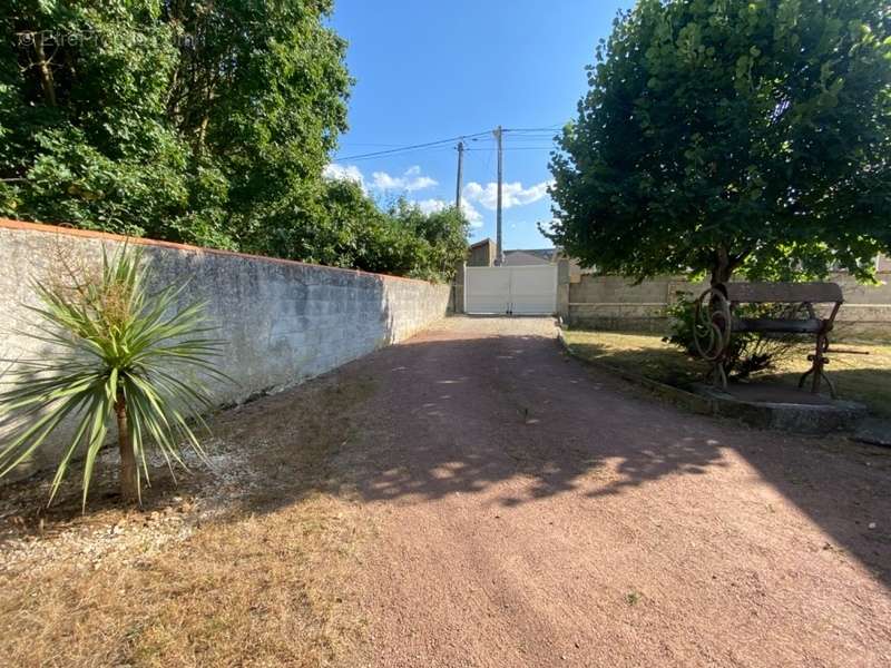
<svg viewBox="0 0 891 668">
<path fill-rule="evenodd" d="M 566 340 L 582 357 L 679 387 L 702 381 L 707 371 L 704 363 L 664 343 L 658 335 L 574 330 L 566 332 Z M 869 353 L 830 353 L 828 372 L 839 395 L 863 402 L 880 415 L 891 416 L 891 342 L 851 341 L 835 346 Z M 761 372 L 753 380 L 775 380 L 794 386 L 799 376 L 810 367 L 810 346 L 803 345 L 776 370 Z"/>
</svg>

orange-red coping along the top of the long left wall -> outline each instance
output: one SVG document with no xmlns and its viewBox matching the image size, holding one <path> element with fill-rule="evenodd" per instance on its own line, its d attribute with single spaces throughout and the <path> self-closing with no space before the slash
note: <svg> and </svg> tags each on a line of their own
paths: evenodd
<svg viewBox="0 0 891 668">
<path fill-rule="evenodd" d="M 13 220 L 11 218 L 3 218 L 0 216 L 0 229 L 17 229 L 21 232 L 39 232 L 43 234 L 61 234 L 72 237 L 81 237 L 89 239 L 102 239 L 107 242 L 119 242 L 125 244 L 136 244 L 138 246 L 153 246 L 156 248 L 169 248 L 172 250 L 185 250 L 186 253 L 219 255 L 223 257 L 239 257 L 242 259 L 254 259 L 268 262 L 273 264 L 283 264 L 301 267 L 312 267 L 319 269 L 326 269 L 329 272 L 345 272 L 347 274 L 358 276 L 372 276 L 375 278 L 389 278 L 394 281 L 410 281 L 412 283 L 423 283 L 425 285 L 444 285 L 448 283 L 432 283 L 423 281 L 422 278 L 409 278 L 407 276 L 393 276 L 392 274 L 378 274 L 375 272 L 363 272 L 362 269 L 347 269 L 345 267 L 331 267 L 327 265 L 314 264 L 311 262 L 300 262 L 297 259 L 285 259 L 283 257 L 271 257 L 268 255 L 254 255 L 252 253 L 239 253 L 237 250 L 224 250 L 223 248 L 210 248 L 207 246 L 193 246 L 190 244 L 179 244 L 176 242 L 161 242 L 158 239 L 150 239 L 148 237 L 131 237 L 120 234 L 112 234 L 109 232 L 98 232 L 95 229 L 80 229 L 78 227 L 68 227 L 59 225 L 47 225 L 46 223 L 28 223 L 26 220 Z"/>
</svg>

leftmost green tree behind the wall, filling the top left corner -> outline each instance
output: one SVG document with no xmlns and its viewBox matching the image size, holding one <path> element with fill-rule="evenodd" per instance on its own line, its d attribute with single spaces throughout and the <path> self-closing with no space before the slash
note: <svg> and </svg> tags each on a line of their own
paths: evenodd
<svg viewBox="0 0 891 668">
<path fill-rule="evenodd" d="M 164 117 L 157 2 L 11 0 L 0 18 L 0 214 L 169 238 L 187 148 Z"/>
</svg>

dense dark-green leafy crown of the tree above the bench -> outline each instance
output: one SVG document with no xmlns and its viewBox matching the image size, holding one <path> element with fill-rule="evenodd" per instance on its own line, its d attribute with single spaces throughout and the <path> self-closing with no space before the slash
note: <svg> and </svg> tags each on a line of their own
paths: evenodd
<svg viewBox="0 0 891 668">
<path fill-rule="evenodd" d="M 588 81 L 551 160 L 582 263 L 868 278 L 891 249 L 887 2 L 640 0 Z"/>
</svg>

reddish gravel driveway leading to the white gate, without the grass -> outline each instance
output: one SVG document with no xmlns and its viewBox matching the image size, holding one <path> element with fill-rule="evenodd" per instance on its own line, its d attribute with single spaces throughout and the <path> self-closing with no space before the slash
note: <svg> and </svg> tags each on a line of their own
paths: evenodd
<svg viewBox="0 0 891 668">
<path fill-rule="evenodd" d="M 341 462 L 374 666 L 889 666 L 891 458 L 679 412 L 549 320 L 451 318 Z"/>
</svg>

